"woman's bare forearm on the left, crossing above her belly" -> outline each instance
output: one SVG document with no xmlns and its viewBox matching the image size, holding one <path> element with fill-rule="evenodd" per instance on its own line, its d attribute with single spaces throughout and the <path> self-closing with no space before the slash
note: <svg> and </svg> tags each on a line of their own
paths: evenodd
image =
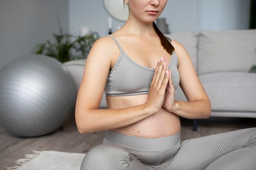
<svg viewBox="0 0 256 170">
<path fill-rule="evenodd" d="M 87 133 L 125 127 L 153 114 L 146 104 L 140 104 L 121 109 L 76 110 L 75 118 L 79 132 Z"/>
</svg>

